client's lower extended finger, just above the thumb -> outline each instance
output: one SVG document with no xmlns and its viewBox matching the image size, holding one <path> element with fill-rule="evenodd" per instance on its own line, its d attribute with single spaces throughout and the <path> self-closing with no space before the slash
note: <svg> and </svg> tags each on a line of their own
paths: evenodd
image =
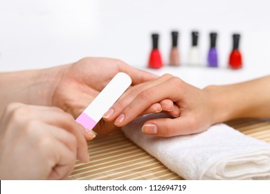
<svg viewBox="0 0 270 194">
<path fill-rule="evenodd" d="M 159 85 L 155 85 L 154 87 L 150 87 L 142 91 L 138 96 L 136 96 L 136 98 L 134 98 L 132 103 L 123 109 L 123 112 L 121 112 L 118 118 L 116 118 L 114 124 L 118 127 L 126 125 L 147 107 L 150 107 L 150 105 L 160 102 L 163 99 L 171 99 L 174 102 L 179 101 L 183 91 L 181 85 L 179 85 L 181 82 L 177 83 L 177 80 L 180 79 L 173 77 Z"/>
</svg>

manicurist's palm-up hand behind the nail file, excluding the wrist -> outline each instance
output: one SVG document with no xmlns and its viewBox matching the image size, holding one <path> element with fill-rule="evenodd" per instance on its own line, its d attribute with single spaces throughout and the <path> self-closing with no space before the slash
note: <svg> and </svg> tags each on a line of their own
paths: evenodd
<svg viewBox="0 0 270 194">
<path fill-rule="evenodd" d="M 54 82 L 52 105 L 64 109 L 77 118 L 118 72 L 127 73 L 132 85 L 152 80 L 158 76 L 128 66 L 120 60 L 85 58 L 74 64 L 49 69 L 48 75 L 57 74 Z M 50 77 L 50 76 L 48 76 Z M 100 121 L 94 128 L 98 134 L 108 134 L 117 127 L 114 123 Z"/>
</svg>

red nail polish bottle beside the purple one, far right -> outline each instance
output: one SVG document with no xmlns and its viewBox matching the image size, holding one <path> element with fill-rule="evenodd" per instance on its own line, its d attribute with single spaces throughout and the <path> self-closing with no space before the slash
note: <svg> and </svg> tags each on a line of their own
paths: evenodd
<svg viewBox="0 0 270 194">
<path fill-rule="evenodd" d="M 231 69 L 242 68 L 242 55 L 239 50 L 240 34 L 233 34 L 233 51 L 231 51 L 229 59 L 229 67 Z"/>
</svg>

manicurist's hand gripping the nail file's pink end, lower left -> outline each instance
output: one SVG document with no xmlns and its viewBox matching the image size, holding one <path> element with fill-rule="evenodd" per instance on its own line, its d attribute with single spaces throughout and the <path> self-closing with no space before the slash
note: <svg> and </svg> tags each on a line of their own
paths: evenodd
<svg viewBox="0 0 270 194">
<path fill-rule="evenodd" d="M 0 179 L 65 179 L 89 161 L 84 128 L 57 107 L 12 103 L 0 129 Z"/>
</svg>

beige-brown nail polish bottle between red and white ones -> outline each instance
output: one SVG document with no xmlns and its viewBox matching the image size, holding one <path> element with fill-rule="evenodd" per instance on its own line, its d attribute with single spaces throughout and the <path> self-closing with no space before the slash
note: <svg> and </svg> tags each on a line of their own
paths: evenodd
<svg viewBox="0 0 270 194">
<path fill-rule="evenodd" d="M 172 48 L 170 50 L 170 66 L 180 66 L 180 55 L 177 48 L 178 32 L 172 31 Z"/>
</svg>

